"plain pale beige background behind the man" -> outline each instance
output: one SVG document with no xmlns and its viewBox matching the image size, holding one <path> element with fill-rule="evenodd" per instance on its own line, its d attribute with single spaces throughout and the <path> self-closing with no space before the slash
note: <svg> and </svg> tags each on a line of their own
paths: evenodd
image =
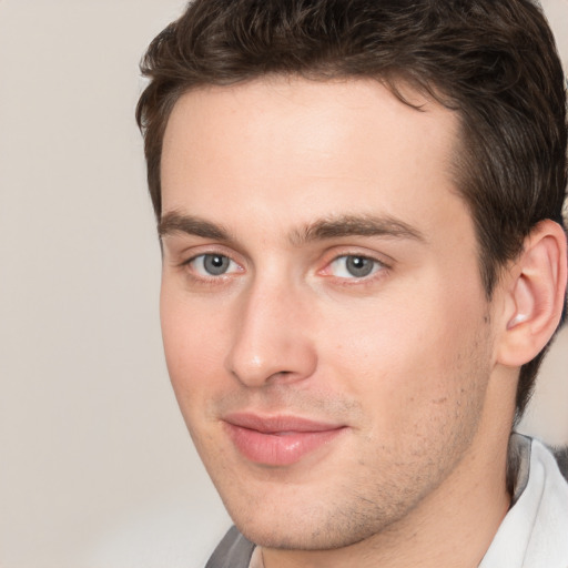
<svg viewBox="0 0 568 568">
<path fill-rule="evenodd" d="M 568 60 L 568 3 L 545 3 Z M 200 567 L 229 520 L 179 416 L 133 108 L 180 0 L 0 0 L 0 568 Z M 564 32 L 562 32 L 564 31 Z M 568 333 L 525 429 L 568 443 Z"/>
</svg>

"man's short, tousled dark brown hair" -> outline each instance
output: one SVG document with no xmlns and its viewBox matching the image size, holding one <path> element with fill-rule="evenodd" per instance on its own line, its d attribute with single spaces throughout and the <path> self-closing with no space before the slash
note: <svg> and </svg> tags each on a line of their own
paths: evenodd
<svg viewBox="0 0 568 568">
<path fill-rule="evenodd" d="M 405 83 L 457 111 L 456 182 L 475 222 L 488 298 L 535 225 L 562 224 L 564 73 L 530 0 L 195 0 L 153 40 L 141 69 L 150 84 L 136 120 L 158 217 L 162 139 L 179 98 L 280 73 L 373 78 L 403 101 Z M 545 351 L 521 367 L 517 417 Z"/>
</svg>

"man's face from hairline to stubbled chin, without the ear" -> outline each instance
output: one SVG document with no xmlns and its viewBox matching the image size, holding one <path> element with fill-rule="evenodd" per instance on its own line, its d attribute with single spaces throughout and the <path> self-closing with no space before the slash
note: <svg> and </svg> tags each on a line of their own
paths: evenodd
<svg viewBox="0 0 568 568">
<path fill-rule="evenodd" d="M 456 116 L 376 82 L 185 94 L 162 155 L 173 387 L 253 541 L 326 549 L 469 475 L 490 306 L 450 175 Z"/>
</svg>

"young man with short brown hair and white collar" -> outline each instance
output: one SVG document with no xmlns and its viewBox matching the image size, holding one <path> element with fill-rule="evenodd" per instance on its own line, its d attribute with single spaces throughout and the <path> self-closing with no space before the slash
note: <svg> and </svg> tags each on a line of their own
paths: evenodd
<svg viewBox="0 0 568 568">
<path fill-rule="evenodd" d="M 138 120 L 210 567 L 568 566 L 511 427 L 567 280 L 566 100 L 528 0 L 195 0 Z"/>
</svg>

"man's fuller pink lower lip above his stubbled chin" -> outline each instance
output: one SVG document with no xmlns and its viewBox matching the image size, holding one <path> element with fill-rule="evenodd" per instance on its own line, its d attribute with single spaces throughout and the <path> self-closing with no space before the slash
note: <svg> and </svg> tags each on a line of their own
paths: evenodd
<svg viewBox="0 0 568 568">
<path fill-rule="evenodd" d="M 225 423 L 229 436 L 239 452 L 256 464 L 288 466 L 300 462 L 335 439 L 345 428 L 322 432 L 265 434 Z"/>
</svg>

